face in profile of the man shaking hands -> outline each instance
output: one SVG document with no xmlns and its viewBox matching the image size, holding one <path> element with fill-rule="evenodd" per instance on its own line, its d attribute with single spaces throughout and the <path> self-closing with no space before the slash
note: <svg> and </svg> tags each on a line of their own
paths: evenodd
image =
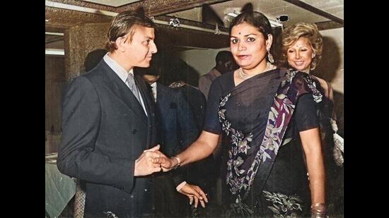
<svg viewBox="0 0 389 218">
<path fill-rule="evenodd" d="M 127 42 L 124 44 L 125 55 L 131 66 L 149 67 L 151 57 L 158 50 L 154 43 L 154 28 L 147 28 L 137 25 L 134 28 L 134 35 L 130 42 L 130 35 L 128 35 Z"/>
</svg>

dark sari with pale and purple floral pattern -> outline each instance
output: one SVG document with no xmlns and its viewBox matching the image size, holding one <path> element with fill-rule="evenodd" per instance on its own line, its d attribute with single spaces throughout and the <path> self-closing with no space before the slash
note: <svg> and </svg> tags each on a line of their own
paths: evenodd
<svg viewBox="0 0 389 218">
<path fill-rule="evenodd" d="M 219 121 L 223 132 L 231 140 L 226 185 L 233 202 L 227 217 L 250 217 L 254 213 L 254 208 L 244 203 L 254 181 L 255 193 L 262 193 L 273 203 L 267 207 L 275 214 L 293 215 L 296 210 L 302 211 L 298 204 L 301 200 L 296 195 L 271 193 L 264 187 L 283 146 L 298 99 L 304 94 L 312 95 L 315 102 L 322 99 L 310 75 L 275 69 L 243 81 L 221 97 Z M 272 97 L 269 98 L 269 95 Z M 265 99 L 272 100 L 270 107 L 267 107 Z"/>
</svg>

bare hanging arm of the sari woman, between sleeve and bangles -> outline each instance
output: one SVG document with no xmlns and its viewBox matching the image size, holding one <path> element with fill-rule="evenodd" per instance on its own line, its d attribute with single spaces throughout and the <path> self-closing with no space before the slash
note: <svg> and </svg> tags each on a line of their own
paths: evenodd
<svg viewBox="0 0 389 218">
<path fill-rule="evenodd" d="M 319 128 L 300 132 L 309 174 L 310 200 L 312 205 L 325 203 L 325 169 L 320 145 Z"/>
</svg>

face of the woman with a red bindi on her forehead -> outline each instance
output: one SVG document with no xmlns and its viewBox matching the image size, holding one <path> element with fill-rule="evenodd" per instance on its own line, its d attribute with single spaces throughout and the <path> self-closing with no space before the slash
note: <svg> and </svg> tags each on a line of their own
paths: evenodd
<svg viewBox="0 0 389 218">
<path fill-rule="evenodd" d="M 248 23 L 240 23 L 231 29 L 231 53 L 239 66 L 250 70 L 266 64 L 266 48 L 270 48 L 272 40 L 272 35 L 268 35 L 265 40 L 257 28 Z"/>
</svg>

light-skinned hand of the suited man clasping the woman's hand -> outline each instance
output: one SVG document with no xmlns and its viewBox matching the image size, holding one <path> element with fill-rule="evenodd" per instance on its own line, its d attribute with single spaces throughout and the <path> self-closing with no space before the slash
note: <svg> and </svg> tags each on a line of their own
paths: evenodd
<svg viewBox="0 0 389 218">
<path fill-rule="evenodd" d="M 154 158 L 158 158 L 163 155 L 159 151 L 159 147 L 159 145 L 156 145 L 156 147 L 152 147 L 149 150 L 144 150 L 141 156 L 135 160 L 134 176 L 146 176 L 154 172 L 161 171 L 161 165 L 153 162 Z"/>
</svg>

